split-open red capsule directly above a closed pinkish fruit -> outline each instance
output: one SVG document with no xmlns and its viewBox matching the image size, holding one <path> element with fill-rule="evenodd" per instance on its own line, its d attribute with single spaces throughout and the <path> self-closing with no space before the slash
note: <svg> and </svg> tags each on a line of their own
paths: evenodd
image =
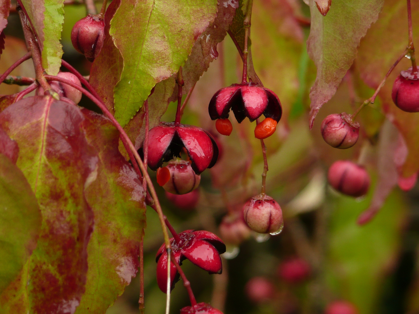
<svg viewBox="0 0 419 314">
<path fill-rule="evenodd" d="M 187 124 L 160 123 L 148 133 L 148 166 L 157 170 L 163 162 L 180 157 L 182 148 L 191 159 L 191 167 L 199 175 L 217 162 L 218 147 L 205 130 Z"/>
</svg>

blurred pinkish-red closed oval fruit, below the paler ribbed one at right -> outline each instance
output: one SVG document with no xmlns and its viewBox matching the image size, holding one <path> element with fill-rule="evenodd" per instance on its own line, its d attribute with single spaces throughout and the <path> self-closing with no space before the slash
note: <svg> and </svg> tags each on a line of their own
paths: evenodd
<svg viewBox="0 0 419 314">
<path fill-rule="evenodd" d="M 330 166 L 327 179 L 330 185 L 349 196 L 363 196 L 370 187 L 370 175 L 361 165 L 349 160 L 338 160 Z"/>
</svg>

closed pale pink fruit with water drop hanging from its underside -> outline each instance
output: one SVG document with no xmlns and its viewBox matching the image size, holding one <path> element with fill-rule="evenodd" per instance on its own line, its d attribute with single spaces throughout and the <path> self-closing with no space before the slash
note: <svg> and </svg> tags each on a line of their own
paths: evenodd
<svg viewBox="0 0 419 314">
<path fill-rule="evenodd" d="M 252 197 L 245 204 L 243 214 L 246 224 L 255 232 L 279 233 L 284 225 L 281 207 L 265 194 Z"/>
</svg>

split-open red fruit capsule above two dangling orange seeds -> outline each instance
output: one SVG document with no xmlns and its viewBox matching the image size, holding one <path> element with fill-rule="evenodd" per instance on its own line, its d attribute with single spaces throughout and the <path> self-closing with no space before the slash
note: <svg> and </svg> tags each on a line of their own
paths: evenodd
<svg viewBox="0 0 419 314">
<path fill-rule="evenodd" d="M 278 96 L 272 90 L 259 87 L 253 82 L 221 88 L 212 96 L 208 106 L 212 120 L 228 118 L 230 109 L 238 123 L 246 117 L 254 121 L 262 114 L 278 122 L 282 116 Z"/>
</svg>

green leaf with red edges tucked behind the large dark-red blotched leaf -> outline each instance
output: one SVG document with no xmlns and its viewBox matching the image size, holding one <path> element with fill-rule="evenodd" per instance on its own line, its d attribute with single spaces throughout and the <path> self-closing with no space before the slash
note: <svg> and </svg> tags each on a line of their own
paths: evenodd
<svg viewBox="0 0 419 314">
<path fill-rule="evenodd" d="M 88 245 L 86 291 L 76 314 L 102 314 L 137 273 L 145 227 L 142 183 L 118 151 L 119 132 L 103 115 L 82 110 L 82 128 L 98 150 L 95 180 L 85 185 L 95 228 Z"/>
</svg>

